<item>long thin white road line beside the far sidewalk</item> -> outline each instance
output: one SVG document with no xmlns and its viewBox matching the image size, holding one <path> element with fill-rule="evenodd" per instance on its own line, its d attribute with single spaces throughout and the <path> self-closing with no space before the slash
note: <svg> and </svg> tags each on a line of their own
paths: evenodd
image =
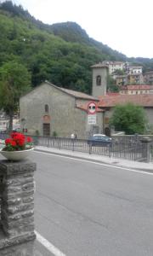
<svg viewBox="0 0 153 256">
<path fill-rule="evenodd" d="M 142 174 L 153 175 L 153 172 L 144 172 L 144 171 L 139 171 L 139 170 L 135 170 L 135 169 L 129 169 L 127 167 L 113 166 L 113 165 L 109 165 L 109 164 L 94 162 L 93 160 L 83 160 L 83 159 L 78 159 L 78 158 L 71 157 L 71 156 L 54 154 L 54 153 L 47 153 L 47 152 L 42 152 L 42 151 L 37 151 L 37 150 L 35 152 L 36 153 L 40 153 L 40 154 L 54 155 L 54 156 L 58 156 L 58 157 L 62 157 L 62 158 L 67 158 L 67 159 L 71 159 L 71 160 L 83 161 L 83 162 L 87 162 L 87 163 L 94 164 L 94 165 L 96 164 L 96 165 L 99 165 L 99 166 L 114 167 L 116 169 L 122 169 L 122 170 L 126 170 L 126 171 L 129 171 L 129 172 L 139 172 L 139 173 L 142 173 Z"/>
</svg>

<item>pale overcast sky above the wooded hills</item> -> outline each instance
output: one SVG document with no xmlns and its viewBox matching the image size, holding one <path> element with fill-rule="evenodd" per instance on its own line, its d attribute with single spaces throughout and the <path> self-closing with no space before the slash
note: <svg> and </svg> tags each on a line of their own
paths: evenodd
<svg viewBox="0 0 153 256">
<path fill-rule="evenodd" d="M 1 1 L 1 0 L 0 0 Z M 153 58 L 153 0 L 13 0 L 52 25 L 75 21 L 127 57 Z"/>
</svg>

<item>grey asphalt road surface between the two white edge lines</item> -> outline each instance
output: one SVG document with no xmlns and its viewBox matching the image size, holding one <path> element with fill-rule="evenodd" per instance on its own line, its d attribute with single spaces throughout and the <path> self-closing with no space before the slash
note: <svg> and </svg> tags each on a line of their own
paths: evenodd
<svg viewBox="0 0 153 256">
<path fill-rule="evenodd" d="M 153 255 L 153 175 L 39 152 L 31 160 L 36 230 L 62 253 Z"/>
</svg>

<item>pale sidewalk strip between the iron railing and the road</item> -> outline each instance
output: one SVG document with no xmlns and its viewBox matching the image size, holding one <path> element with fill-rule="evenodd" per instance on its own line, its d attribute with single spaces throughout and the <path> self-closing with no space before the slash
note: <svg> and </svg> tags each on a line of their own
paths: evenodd
<svg viewBox="0 0 153 256">
<path fill-rule="evenodd" d="M 92 160 L 92 161 L 96 161 L 96 162 L 100 162 L 100 163 L 104 163 L 112 166 L 120 166 L 120 167 L 129 168 L 129 169 L 141 170 L 145 172 L 153 172 L 153 162 L 144 163 L 144 162 L 138 162 L 133 160 L 110 158 L 105 155 L 88 154 L 88 153 L 82 153 L 82 152 L 65 150 L 65 149 L 47 148 L 42 146 L 37 146 L 35 149 L 38 151 L 65 155 L 65 156 L 69 156 L 77 159 Z"/>
</svg>

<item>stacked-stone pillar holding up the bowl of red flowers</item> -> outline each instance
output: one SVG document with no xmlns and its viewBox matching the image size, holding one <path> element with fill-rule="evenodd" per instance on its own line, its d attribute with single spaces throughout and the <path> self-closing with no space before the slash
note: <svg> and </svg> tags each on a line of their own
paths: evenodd
<svg viewBox="0 0 153 256">
<path fill-rule="evenodd" d="M 0 255 L 33 255 L 35 170 L 28 160 L 0 161 Z"/>
</svg>

